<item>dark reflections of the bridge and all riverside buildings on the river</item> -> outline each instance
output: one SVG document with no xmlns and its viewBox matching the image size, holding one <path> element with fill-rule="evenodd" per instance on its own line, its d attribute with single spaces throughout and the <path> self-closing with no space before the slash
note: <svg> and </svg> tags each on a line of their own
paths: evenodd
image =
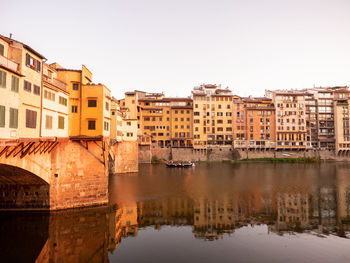
<svg viewBox="0 0 350 263">
<path fill-rule="evenodd" d="M 0 214 L 0 254 L 6 262 L 109 262 L 133 238 L 166 246 L 175 235 L 161 236 L 169 226 L 182 236 L 190 231 L 185 246 L 191 251 L 194 240 L 242 240 L 259 231 L 347 240 L 349 171 L 348 164 L 145 165 L 139 174 L 112 178 L 108 207 Z M 145 236 L 150 229 L 159 235 Z"/>
</svg>

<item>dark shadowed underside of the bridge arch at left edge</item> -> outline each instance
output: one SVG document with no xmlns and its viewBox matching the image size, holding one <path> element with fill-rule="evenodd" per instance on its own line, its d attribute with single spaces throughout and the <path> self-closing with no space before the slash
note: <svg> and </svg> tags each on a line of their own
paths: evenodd
<svg viewBox="0 0 350 263">
<path fill-rule="evenodd" d="M 50 185 L 25 169 L 0 164 L 0 209 L 48 210 Z"/>
</svg>

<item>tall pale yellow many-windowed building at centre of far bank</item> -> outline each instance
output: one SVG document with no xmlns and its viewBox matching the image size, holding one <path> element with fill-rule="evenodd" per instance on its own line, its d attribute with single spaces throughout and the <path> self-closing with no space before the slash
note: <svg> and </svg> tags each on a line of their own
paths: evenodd
<svg viewBox="0 0 350 263">
<path fill-rule="evenodd" d="M 233 95 L 221 86 L 203 84 L 193 95 L 194 149 L 208 145 L 232 145 Z"/>
</svg>

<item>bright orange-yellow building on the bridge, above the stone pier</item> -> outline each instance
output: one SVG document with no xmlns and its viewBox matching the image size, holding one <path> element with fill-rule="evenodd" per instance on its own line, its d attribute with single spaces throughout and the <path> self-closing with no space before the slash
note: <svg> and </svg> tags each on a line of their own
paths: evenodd
<svg viewBox="0 0 350 263">
<path fill-rule="evenodd" d="M 52 64 L 58 78 L 67 83 L 69 97 L 69 136 L 110 136 L 111 92 L 102 84 L 92 83 L 92 73 L 65 69 Z"/>
</svg>

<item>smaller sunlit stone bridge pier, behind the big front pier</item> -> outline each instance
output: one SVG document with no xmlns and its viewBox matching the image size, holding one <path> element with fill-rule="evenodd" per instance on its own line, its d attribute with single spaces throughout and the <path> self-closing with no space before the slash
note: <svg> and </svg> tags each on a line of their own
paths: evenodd
<svg viewBox="0 0 350 263">
<path fill-rule="evenodd" d="M 113 173 L 134 173 L 139 170 L 139 148 L 135 142 L 118 142 L 111 146 L 114 160 Z"/>
</svg>

